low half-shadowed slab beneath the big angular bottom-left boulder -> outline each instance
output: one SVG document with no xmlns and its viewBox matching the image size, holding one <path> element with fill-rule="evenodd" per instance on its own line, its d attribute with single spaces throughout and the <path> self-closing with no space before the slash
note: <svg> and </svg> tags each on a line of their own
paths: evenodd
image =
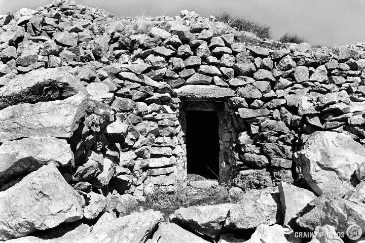
<svg viewBox="0 0 365 243">
<path fill-rule="evenodd" d="M 25 236 L 17 239 L 10 239 L 8 243 L 72 243 L 90 233 L 90 226 L 75 222 L 63 224 L 56 228 L 36 232 L 31 236 Z"/>
</svg>

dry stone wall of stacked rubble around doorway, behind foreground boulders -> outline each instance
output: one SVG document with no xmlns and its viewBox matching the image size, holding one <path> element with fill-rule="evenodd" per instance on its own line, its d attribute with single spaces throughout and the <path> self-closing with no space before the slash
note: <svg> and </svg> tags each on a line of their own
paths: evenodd
<svg viewBox="0 0 365 243">
<path fill-rule="evenodd" d="M 220 176 L 243 190 L 303 181 L 293 153 L 316 131 L 365 143 L 364 43 L 245 43 L 187 11 L 156 21 L 168 28 L 138 33 L 60 0 L 0 16 L 2 190 L 55 163 L 80 193 L 174 191 L 189 166 L 189 101 L 223 104 Z"/>
</svg>

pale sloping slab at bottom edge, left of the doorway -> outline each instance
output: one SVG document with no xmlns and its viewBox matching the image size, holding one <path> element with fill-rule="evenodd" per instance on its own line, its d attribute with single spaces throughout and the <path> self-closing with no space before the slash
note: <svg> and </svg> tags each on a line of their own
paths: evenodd
<svg viewBox="0 0 365 243">
<path fill-rule="evenodd" d="M 163 217 L 159 211 L 147 210 L 142 213 L 130 214 L 94 227 L 90 235 L 81 238 L 76 243 L 142 243 L 147 240 L 162 220 Z"/>
</svg>

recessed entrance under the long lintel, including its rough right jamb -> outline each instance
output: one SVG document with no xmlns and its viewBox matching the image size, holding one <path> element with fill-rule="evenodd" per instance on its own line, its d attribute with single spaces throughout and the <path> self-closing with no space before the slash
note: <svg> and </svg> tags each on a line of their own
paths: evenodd
<svg viewBox="0 0 365 243">
<path fill-rule="evenodd" d="M 224 101 L 183 101 L 179 123 L 186 145 L 188 174 L 229 180 L 236 130 Z"/>
</svg>

